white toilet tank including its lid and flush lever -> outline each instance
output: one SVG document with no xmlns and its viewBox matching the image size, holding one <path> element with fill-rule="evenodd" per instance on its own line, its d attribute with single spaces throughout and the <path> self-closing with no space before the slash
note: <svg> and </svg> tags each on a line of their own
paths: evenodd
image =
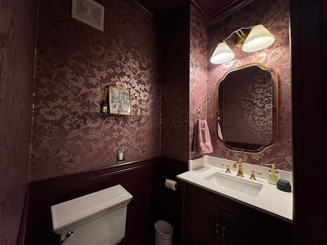
<svg viewBox="0 0 327 245">
<path fill-rule="evenodd" d="M 53 231 L 64 245 L 114 245 L 125 236 L 132 195 L 121 185 L 51 206 Z"/>
</svg>

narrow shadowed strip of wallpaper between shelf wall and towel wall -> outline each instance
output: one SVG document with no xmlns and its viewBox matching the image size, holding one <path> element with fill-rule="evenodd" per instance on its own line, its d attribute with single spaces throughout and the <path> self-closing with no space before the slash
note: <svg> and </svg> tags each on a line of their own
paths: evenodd
<svg viewBox="0 0 327 245">
<path fill-rule="evenodd" d="M 161 156 L 189 160 L 190 13 L 163 30 Z"/>
</svg>

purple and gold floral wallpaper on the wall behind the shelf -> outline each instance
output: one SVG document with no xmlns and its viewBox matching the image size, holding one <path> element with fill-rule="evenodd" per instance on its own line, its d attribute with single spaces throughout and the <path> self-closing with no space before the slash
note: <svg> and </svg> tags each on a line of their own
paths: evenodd
<svg viewBox="0 0 327 245">
<path fill-rule="evenodd" d="M 104 32 L 73 19 L 71 1 L 40 1 L 31 181 L 160 156 L 159 30 L 121 1 Z M 140 117 L 99 115 L 101 88 L 128 89 Z M 108 101 L 107 101 L 108 103 Z"/>
</svg>

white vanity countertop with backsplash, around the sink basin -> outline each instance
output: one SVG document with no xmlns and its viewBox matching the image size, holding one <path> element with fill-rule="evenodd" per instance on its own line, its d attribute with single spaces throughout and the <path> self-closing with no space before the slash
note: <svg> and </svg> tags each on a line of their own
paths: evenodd
<svg viewBox="0 0 327 245">
<path fill-rule="evenodd" d="M 225 173 L 226 167 L 222 166 L 222 163 L 229 164 L 231 171 L 230 174 Z M 241 178 L 237 177 L 238 168 L 233 168 L 233 163 L 234 161 L 231 160 L 204 156 L 196 160 L 190 160 L 189 171 L 178 175 L 177 178 L 187 183 L 211 191 L 213 193 L 222 195 L 223 197 L 226 197 L 233 201 L 242 203 L 246 206 L 281 218 L 283 220 L 286 220 L 287 222 L 293 223 L 293 191 L 281 191 L 278 190 L 275 185 L 269 184 L 267 182 L 267 177 L 264 178 L 264 176 L 267 176 L 268 170 L 270 168 L 243 163 L 244 177 L 242 177 L 242 179 L 250 182 L 260 183 L 263 185 L 262 189 L 256 197 L 230 189 L 228 187 L 221 186 L 217 183 L 204 180 L 205 177 L 215 172 L 228 176 L 233 176 L 236 178 Z M 262 177 L 261 175 L 256 174 L 256 180 L 250 180 L 249 178 L 251 172 L 248 169 L 260 171 L 261 173 L 263 173 L 264 176 Z M 288 180 L 292 185 L 291 172 L 281 170 L 277 171 L 281 174 L 280 179 Z"/>
</svg>

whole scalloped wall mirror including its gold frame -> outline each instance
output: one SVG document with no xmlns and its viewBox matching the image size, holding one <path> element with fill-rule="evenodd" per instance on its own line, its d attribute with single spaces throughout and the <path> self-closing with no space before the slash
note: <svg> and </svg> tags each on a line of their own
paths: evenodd
<svg viewBox="0 0 327 245">
<path fill-rule="evenodd" d="M 216 135 L 232 151 L 260 153 L 278 138 L 278 75 L 261 63 L 228 70 L 216 85 Z"/>
</svg>

